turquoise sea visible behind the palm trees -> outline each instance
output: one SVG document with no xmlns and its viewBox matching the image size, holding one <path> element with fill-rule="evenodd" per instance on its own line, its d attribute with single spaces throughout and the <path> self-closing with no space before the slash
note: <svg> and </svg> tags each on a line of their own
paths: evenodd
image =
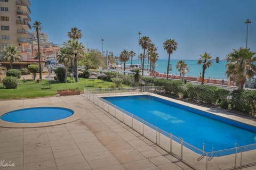
<svg viewBox="0 0 256 170">
<path fill-rule="evenodd" d="M 180 75 L 180 72 L 176 69 L 176 64 L 179 60 L 170 60 L 170 64 L 172 65 L 172 71 L 169 71 L 169 74 L 177 74 Z M 189 71 L 186 73 L 185 76 L 190 77 L 200 77 L 200 73 L 202 75 L 203 72 L 203 64 L 197 64 L 198 60 L 183 60 L 188 64 Z M 219 80 L 228 80 L 226 75 L 226 60 L 220 60 L 219 63 L 216 63 L 216 61 L 212 61 L 213 64 L 209 68 L 205 70 L 205 78 L 210 79 L 219 79 Z M 131 61 L 129 61 L 127 64 L 130 64 Z M 133 61 L 133 64 L 138 64 L 138 60 Z M 139 61 L 140 64 L 140 61 Z M 147 61 L 145 60 L 145 64 L 147 64 Z M 155 70 L 158 73 L 167 73 L 167 64 L 168 60 L 158 60 L 155 64 Z M 123 63 L 122 63 L 123 65 Z M 145 65 L 147 69 L 147 65 Z"/>
</svg>

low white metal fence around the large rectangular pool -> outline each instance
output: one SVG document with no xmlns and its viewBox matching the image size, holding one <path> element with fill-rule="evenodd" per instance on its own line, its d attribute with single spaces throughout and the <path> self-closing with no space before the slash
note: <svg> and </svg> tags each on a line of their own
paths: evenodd
<svg viewBox="0 0 256 170">
<path fill-rule="evenodd" d="M 212 148 L 211 152 L 206 152 L 204 143 L 202 149 L 199 149 L 101 98 L 131 94 L 150 95 L 153 92 L 158 93 L 159 90 L 161 87 L 84 89 L 84 97 L 194 169 L 236 169 L 256 165 L 256 143 L 242 147 L 234 143 L 234 148 L 218 151 Z"/>
</svg>

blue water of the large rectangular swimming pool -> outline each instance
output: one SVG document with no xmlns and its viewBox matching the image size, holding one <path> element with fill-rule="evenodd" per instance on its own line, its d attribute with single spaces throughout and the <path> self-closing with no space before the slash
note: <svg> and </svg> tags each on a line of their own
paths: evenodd
<svg viewBox="0 0 256 170">
<path fill-rule="evenodd" d="M 205 151 L 256 143 L 256 127 L 153 96 L 103 99 Z"/>
</svg>

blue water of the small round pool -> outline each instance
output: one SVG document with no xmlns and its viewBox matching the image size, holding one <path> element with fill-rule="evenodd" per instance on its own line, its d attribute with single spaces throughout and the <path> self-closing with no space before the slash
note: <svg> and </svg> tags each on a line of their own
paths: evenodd
<svg viewBox="0 0 256 170">
<path fill-rule="evenodd" d="M 57 121 L 62 118 L 69 117 L 73 114 L 74 111 L 68 108 L 33 107 L 7 112 L 1 116 L 1 119 L 14 123 L 38 123 Z"/>
</svg>

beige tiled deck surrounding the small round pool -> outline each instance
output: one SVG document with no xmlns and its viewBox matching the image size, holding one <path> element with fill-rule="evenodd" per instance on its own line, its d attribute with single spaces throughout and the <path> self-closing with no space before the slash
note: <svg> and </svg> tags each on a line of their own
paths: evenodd
<svg viewBox="0 0 256 170">
<path fill-rule="evenodd" d="M 0 160 L 15 164 L 1 170 L 191 169 L 82 96 L 0 100 L 0 114 L 39 106 L 76 109 L 79 116 L 43 128 L 0 128 Z"/>
</svg>

